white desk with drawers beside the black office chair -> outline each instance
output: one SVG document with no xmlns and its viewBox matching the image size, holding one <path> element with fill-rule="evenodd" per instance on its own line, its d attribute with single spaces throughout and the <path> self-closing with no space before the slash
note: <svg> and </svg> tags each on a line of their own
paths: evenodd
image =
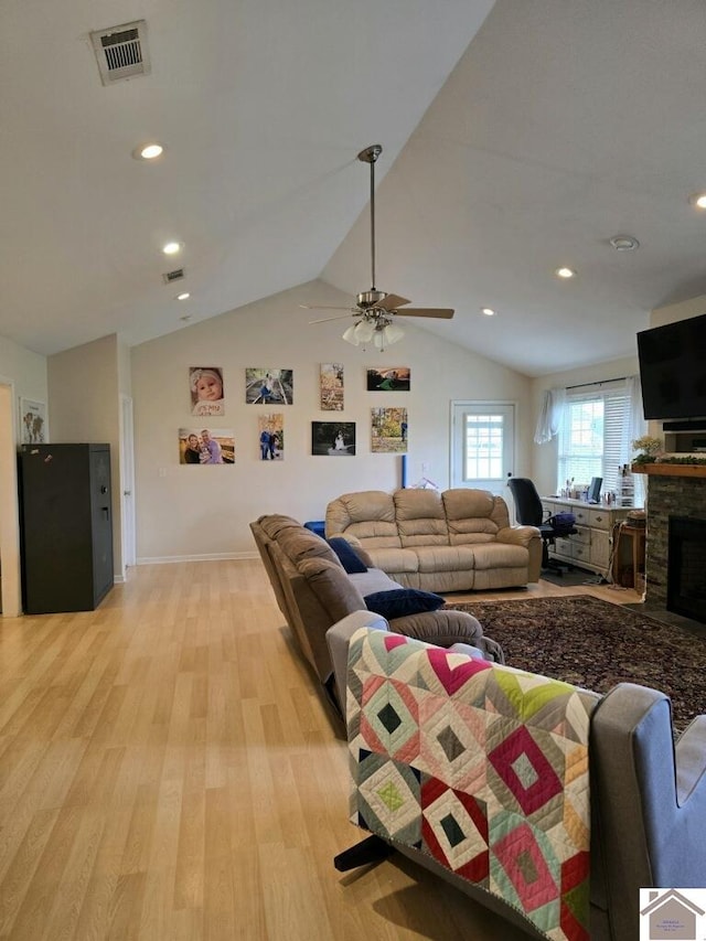
<svg viewBox="0 0 706 941">
<path fill-rule="evenodd" d="M 633 507 L 593 505 L 582 500 L 563 500 L 560 496 L 543 496 L 542 505 L 552 515 L 573 513 L 578 530 L 575 536 L 556 539 L 555 545 L 549 546 L 549 556 L 557 562 L 596 571 L 610 580 L 616 526 L 623 522 Z"/>
</svg>

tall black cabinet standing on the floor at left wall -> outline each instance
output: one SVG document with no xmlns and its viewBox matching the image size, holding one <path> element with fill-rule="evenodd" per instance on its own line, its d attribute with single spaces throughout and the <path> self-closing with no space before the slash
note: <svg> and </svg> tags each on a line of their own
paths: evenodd
<svg viewBox="0 0 706 941">
<path fill-rule="evenodd" d="M 22 445 L 26 614 L 93 611 L 113 587 L 109 445 Z"/>
</svg>

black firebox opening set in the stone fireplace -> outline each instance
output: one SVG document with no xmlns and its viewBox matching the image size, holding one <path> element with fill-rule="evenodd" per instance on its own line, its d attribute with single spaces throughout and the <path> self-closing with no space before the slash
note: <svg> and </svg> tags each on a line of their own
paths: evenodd
<svg viewBox="0 0 706 941">
<path fill-rule="evenodd" d="M 670 516 L 666 609 L 706 624 L 706 520 Z"/>
</svg>

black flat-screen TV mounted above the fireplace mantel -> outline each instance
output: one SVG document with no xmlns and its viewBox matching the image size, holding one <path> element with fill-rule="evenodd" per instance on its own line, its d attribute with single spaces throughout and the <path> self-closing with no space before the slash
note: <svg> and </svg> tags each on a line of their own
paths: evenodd
<svg viewBox="0 0 706 941">
<path fill-rule="evenodd" d="M 645 418 L 706 418 L 706 314 L 638 333 Z"/>
</svg>

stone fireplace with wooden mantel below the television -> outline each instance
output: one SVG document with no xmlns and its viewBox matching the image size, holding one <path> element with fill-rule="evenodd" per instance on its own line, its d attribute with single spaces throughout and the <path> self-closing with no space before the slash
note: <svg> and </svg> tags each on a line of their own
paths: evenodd
<svg viewBox="0 0 706 941">
<path fill-rule="evenodd" d="M 706 530 L 706 466 L 648 464 L 643 472 L 648 474 L 645 601 L 655 608 L 675 610 L 672 605 L 677 596 L 682 600 L 685 596 L 696 599 L 706 592 L 706 569 L 702 566 L 699 570 L 698 566 L 698 558 L 704 558 L 698 553 L 706 553 L 706 543 L 699 549 L 695 535 L 700 528 L 698 523 Z M 682 522 L 672 522 L 670 545 L 670 524 L 677 520 Z M 672 553 L 677 558 L 671 562 L 670 585 Z M 680 605 L 680 601 L 676 603 Z M 684 610 L 676 613 L 706 623 L 706 598 L 700 603 L 698 616 L 694 611 L 687 613 Z"/>
</svg>

